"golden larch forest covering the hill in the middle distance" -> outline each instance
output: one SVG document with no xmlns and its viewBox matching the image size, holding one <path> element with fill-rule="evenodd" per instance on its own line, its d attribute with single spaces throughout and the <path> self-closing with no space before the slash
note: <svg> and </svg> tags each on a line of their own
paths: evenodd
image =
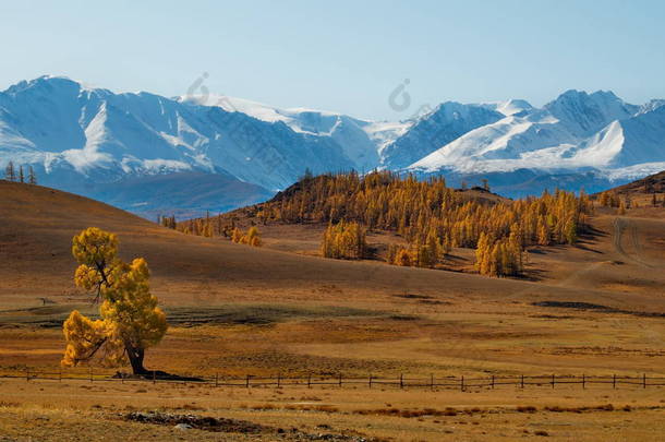
<svg viewBox="0 0 665 442">
<path fill-rule="evenodd" d="M 593 206 L 587 194 L 556 190 L 511 201 L 476 189 L 446 186 L 443 177 L 418 180 L 390 171 L 305 176 L 273 200 L 241 212 L 256 224 L 327 224 L 322 254 L 361 259 L 367 230 L 394 231 L 407 246 L 392 246 L 387 261 L 434 267 L 454 248 L 475 249 L 476 268 L 487 275 L 517 275 L 529 246 L 572 244 Z M 181 231 L 232 238 L 225 215 L 162 224 Z"/>
</svg>

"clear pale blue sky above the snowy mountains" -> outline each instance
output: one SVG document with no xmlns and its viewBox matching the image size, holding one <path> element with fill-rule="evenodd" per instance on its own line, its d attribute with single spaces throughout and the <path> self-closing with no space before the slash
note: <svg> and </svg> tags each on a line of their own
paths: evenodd
<svg viewBox="0 0 665 442">
<path fill-rule="evenodd" d="M 176 96 L 206 72 L 214 93 L 373 119 L 444 100 L 540 106 L 568 88 L 665 98 L 663 1 L 101 3 L 0 2 L 0 89 L 58 74 Z"/>
</svg>

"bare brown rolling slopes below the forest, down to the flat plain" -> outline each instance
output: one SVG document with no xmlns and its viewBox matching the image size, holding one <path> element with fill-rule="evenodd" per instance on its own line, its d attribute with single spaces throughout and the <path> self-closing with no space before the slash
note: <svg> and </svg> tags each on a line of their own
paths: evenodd
<svg viewBox="0 0 665 442">
<path fill-rule="evenodd" d="M 250 248 L 183 235 L 86 198 L 7 181 L 0 181 L 0 219 L 3 306 L 35 306 L 43 297 L 59 303 L 80 301 L 72 284 L 71 238 L 97 226 L 119 235 L 124 258 L 147 259 L 156 295 L 172 306 L 243 301 L 389 306 L 394 296 L 421 294 L 481 310 L 554 299 L 665 312 L 662 277 L 653 272 L 662 263 L 658 244 L 665 241 L 661 219 L 629 219 L 634 234 L 627 237 L 616 228 L 612 213 L 600 214 L 593 223 L 596 237 L 576 248 L 541 248 L 529 254 L 540 275 L 535 282 L 326 260 L 269 246 Z M 317 238 L 314 234 L 312 241 Z"/>
</svg>

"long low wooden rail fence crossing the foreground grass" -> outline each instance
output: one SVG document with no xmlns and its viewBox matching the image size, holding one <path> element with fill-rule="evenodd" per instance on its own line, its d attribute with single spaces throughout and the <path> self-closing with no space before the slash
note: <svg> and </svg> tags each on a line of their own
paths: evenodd
<svg viewBox="0 0 665 442">
<path fill-rule="evenodd" d="M 533 386 L 556 389 L 557 385 L 580 385 L 587 389 L 592 385 L 612 385 L 612 389 L 621 386 L 631 387 L 660 387 L 665 386 L 665 377 L 641 375 L 572 375 L 572 374 L 543 374 L 543 375 L 488 375 L 464 378 L 460 377 L 435 377 L 410 378 L 400 374 L 395 378 L 382 378 L 370 374 L 367 377 L 196 377 L 196 378 L 164 378 L 152 372 L 143 378 L 113 377 L 109 372 L 97 372 L 93 369 L 88 373 L 68 372 L 68 371 L 39 371 L 26 369 L 23 372 L 4 372 L 0 374 L 4 379 L 24 379 L 26 382 L 33 381 L 84 381 L 84 382 L 147 382 L 147 383 L 195 383 L 213 386 L 238 386 L 238 387 L 259 387 L 259 386 L 365 386 L 367 389 L 394 386 L 397 389 L 430 389 L 430 390 L 460 390 L 471 389 L 498 389 L 500 386 L 516 386 L 527 389 Z"/>
</svg>

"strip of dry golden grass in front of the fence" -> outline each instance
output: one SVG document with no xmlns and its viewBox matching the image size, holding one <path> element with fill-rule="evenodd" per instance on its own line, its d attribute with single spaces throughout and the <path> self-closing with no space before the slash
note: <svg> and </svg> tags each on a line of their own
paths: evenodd
<svg viewBox="0 0 665 442">
<path fill-rule="evenodd" d="M 662 391 L 513 387 L 451 392 L 335 387 L 211 387 L 2 381 L 0 428 L 17 440 L 291 440 L 277 434 L 213 433 L 129 422 L 136 410 L 223 416 L 310 434 L 367 440 L 658 441 Z M 11 439 L 10 439 L 11 440 Z"/>
</svg>

